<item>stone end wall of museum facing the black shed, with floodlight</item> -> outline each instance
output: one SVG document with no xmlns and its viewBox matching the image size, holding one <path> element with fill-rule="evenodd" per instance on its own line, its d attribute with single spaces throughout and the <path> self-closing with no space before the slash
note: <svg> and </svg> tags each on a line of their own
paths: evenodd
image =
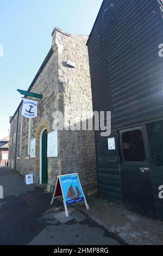
<svg viewBox="0 0 163 256">
<path fill-rule="evenodd" d="M 92 95 L 87 36 L 55 31 L 59 46 L 58 72 L 64 113 L 64 127 L 92 119 Z M 74 63 L 75 68 L 66 65 Z M 89 188 L 96 186 L 95 138 L 92 131 L 60 131 L 59 158 L 62 173 L 79 173 Z"/>
</svg>

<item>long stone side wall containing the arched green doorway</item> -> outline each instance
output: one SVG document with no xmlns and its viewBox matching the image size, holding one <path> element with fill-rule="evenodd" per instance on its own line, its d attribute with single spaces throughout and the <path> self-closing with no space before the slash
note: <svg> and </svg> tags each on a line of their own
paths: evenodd
<svg viewBox="0 0 163 256">
<path fill-rule="evenodd" d="M 16 160 L 16 170 L 22 175 L 33 173 L 35 182 L 40 182 L 40 136 L 43 129 L 47 129 L 48 133 L 52 132 L 57 86 L 58 86 L 58 58 L 57 52 L 54 52 L 48 60 L 45 68 L 37 78 L 30 92 L 42 94 L 43 98 L 38 103 L 38 117 L 31 119 L 30 124 L 30 139 L 36 138 L 36 157 L 27 159 L 28 156 L 28 136 L 29 136 L 29 119 L 21 116 L 21 109 L 18 123 L 18 147 L 17 156 L 20 159 Z M 22 130 L 21 130 L 21 119 Z M 21 136 L 22 131 L 22 136 Z M 21 151 L 20 151 L 21 144 Z M 54 183 L 52 178 L 52 166 L 57 165 L 58 159 L 48 158 L 48 184 Z"/>
</svg>

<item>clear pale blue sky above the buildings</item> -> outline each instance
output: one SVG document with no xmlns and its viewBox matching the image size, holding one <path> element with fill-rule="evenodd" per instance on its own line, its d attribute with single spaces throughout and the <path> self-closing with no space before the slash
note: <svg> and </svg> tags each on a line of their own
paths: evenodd
<svg viewBox="0 0 163 256">
<path fill-rule="evenodd" d="M 8 135 L 9 116 L 21 101 L 51 45 L 54 27 L 71 34 L 90 34 L 102 0 L 0 0 L 1 125 Z"/>
</svg>

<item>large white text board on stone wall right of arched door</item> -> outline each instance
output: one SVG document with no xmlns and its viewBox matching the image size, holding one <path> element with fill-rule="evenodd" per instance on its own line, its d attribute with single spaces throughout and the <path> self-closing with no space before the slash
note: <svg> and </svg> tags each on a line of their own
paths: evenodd
<svg viewBox="0 0 163 256">
<path fill-rule="evenodd" d="M 48 133 L 47 157 L 58 157 L 58 130 Z"/>
</svg>

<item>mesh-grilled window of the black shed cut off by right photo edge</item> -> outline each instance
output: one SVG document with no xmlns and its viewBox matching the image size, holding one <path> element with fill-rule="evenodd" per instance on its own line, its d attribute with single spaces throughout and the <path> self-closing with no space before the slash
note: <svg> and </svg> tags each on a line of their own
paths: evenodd
<svg viewBox="0 0 163 256">
<path fill-rule="evenodd" d="M 163 120 L 146 125 L 152 165 L 163 166 Z"/>
</svg>

